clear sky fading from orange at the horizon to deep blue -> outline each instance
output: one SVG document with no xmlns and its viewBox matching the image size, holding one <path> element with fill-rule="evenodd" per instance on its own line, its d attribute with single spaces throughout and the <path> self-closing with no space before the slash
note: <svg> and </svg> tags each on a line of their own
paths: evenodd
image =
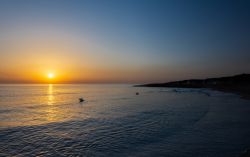
<svg viewBox="0 0 250 157">
<path fill-rule="evenodd" d="M 1 0 L 0 83 L 250 73 L 248 0 Z"/>
</svg>

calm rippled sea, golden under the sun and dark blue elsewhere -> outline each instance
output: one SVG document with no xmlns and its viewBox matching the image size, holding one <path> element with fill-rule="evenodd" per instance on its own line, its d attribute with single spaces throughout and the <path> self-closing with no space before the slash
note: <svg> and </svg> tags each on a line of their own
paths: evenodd
<svg viewBox="0 0 250 157">
<path fill-rule="evenodd" d="M 237 157 L 246 148 L 250 101 L 233 94 L 0 85 L 0 156 Z"/>
</svg>

